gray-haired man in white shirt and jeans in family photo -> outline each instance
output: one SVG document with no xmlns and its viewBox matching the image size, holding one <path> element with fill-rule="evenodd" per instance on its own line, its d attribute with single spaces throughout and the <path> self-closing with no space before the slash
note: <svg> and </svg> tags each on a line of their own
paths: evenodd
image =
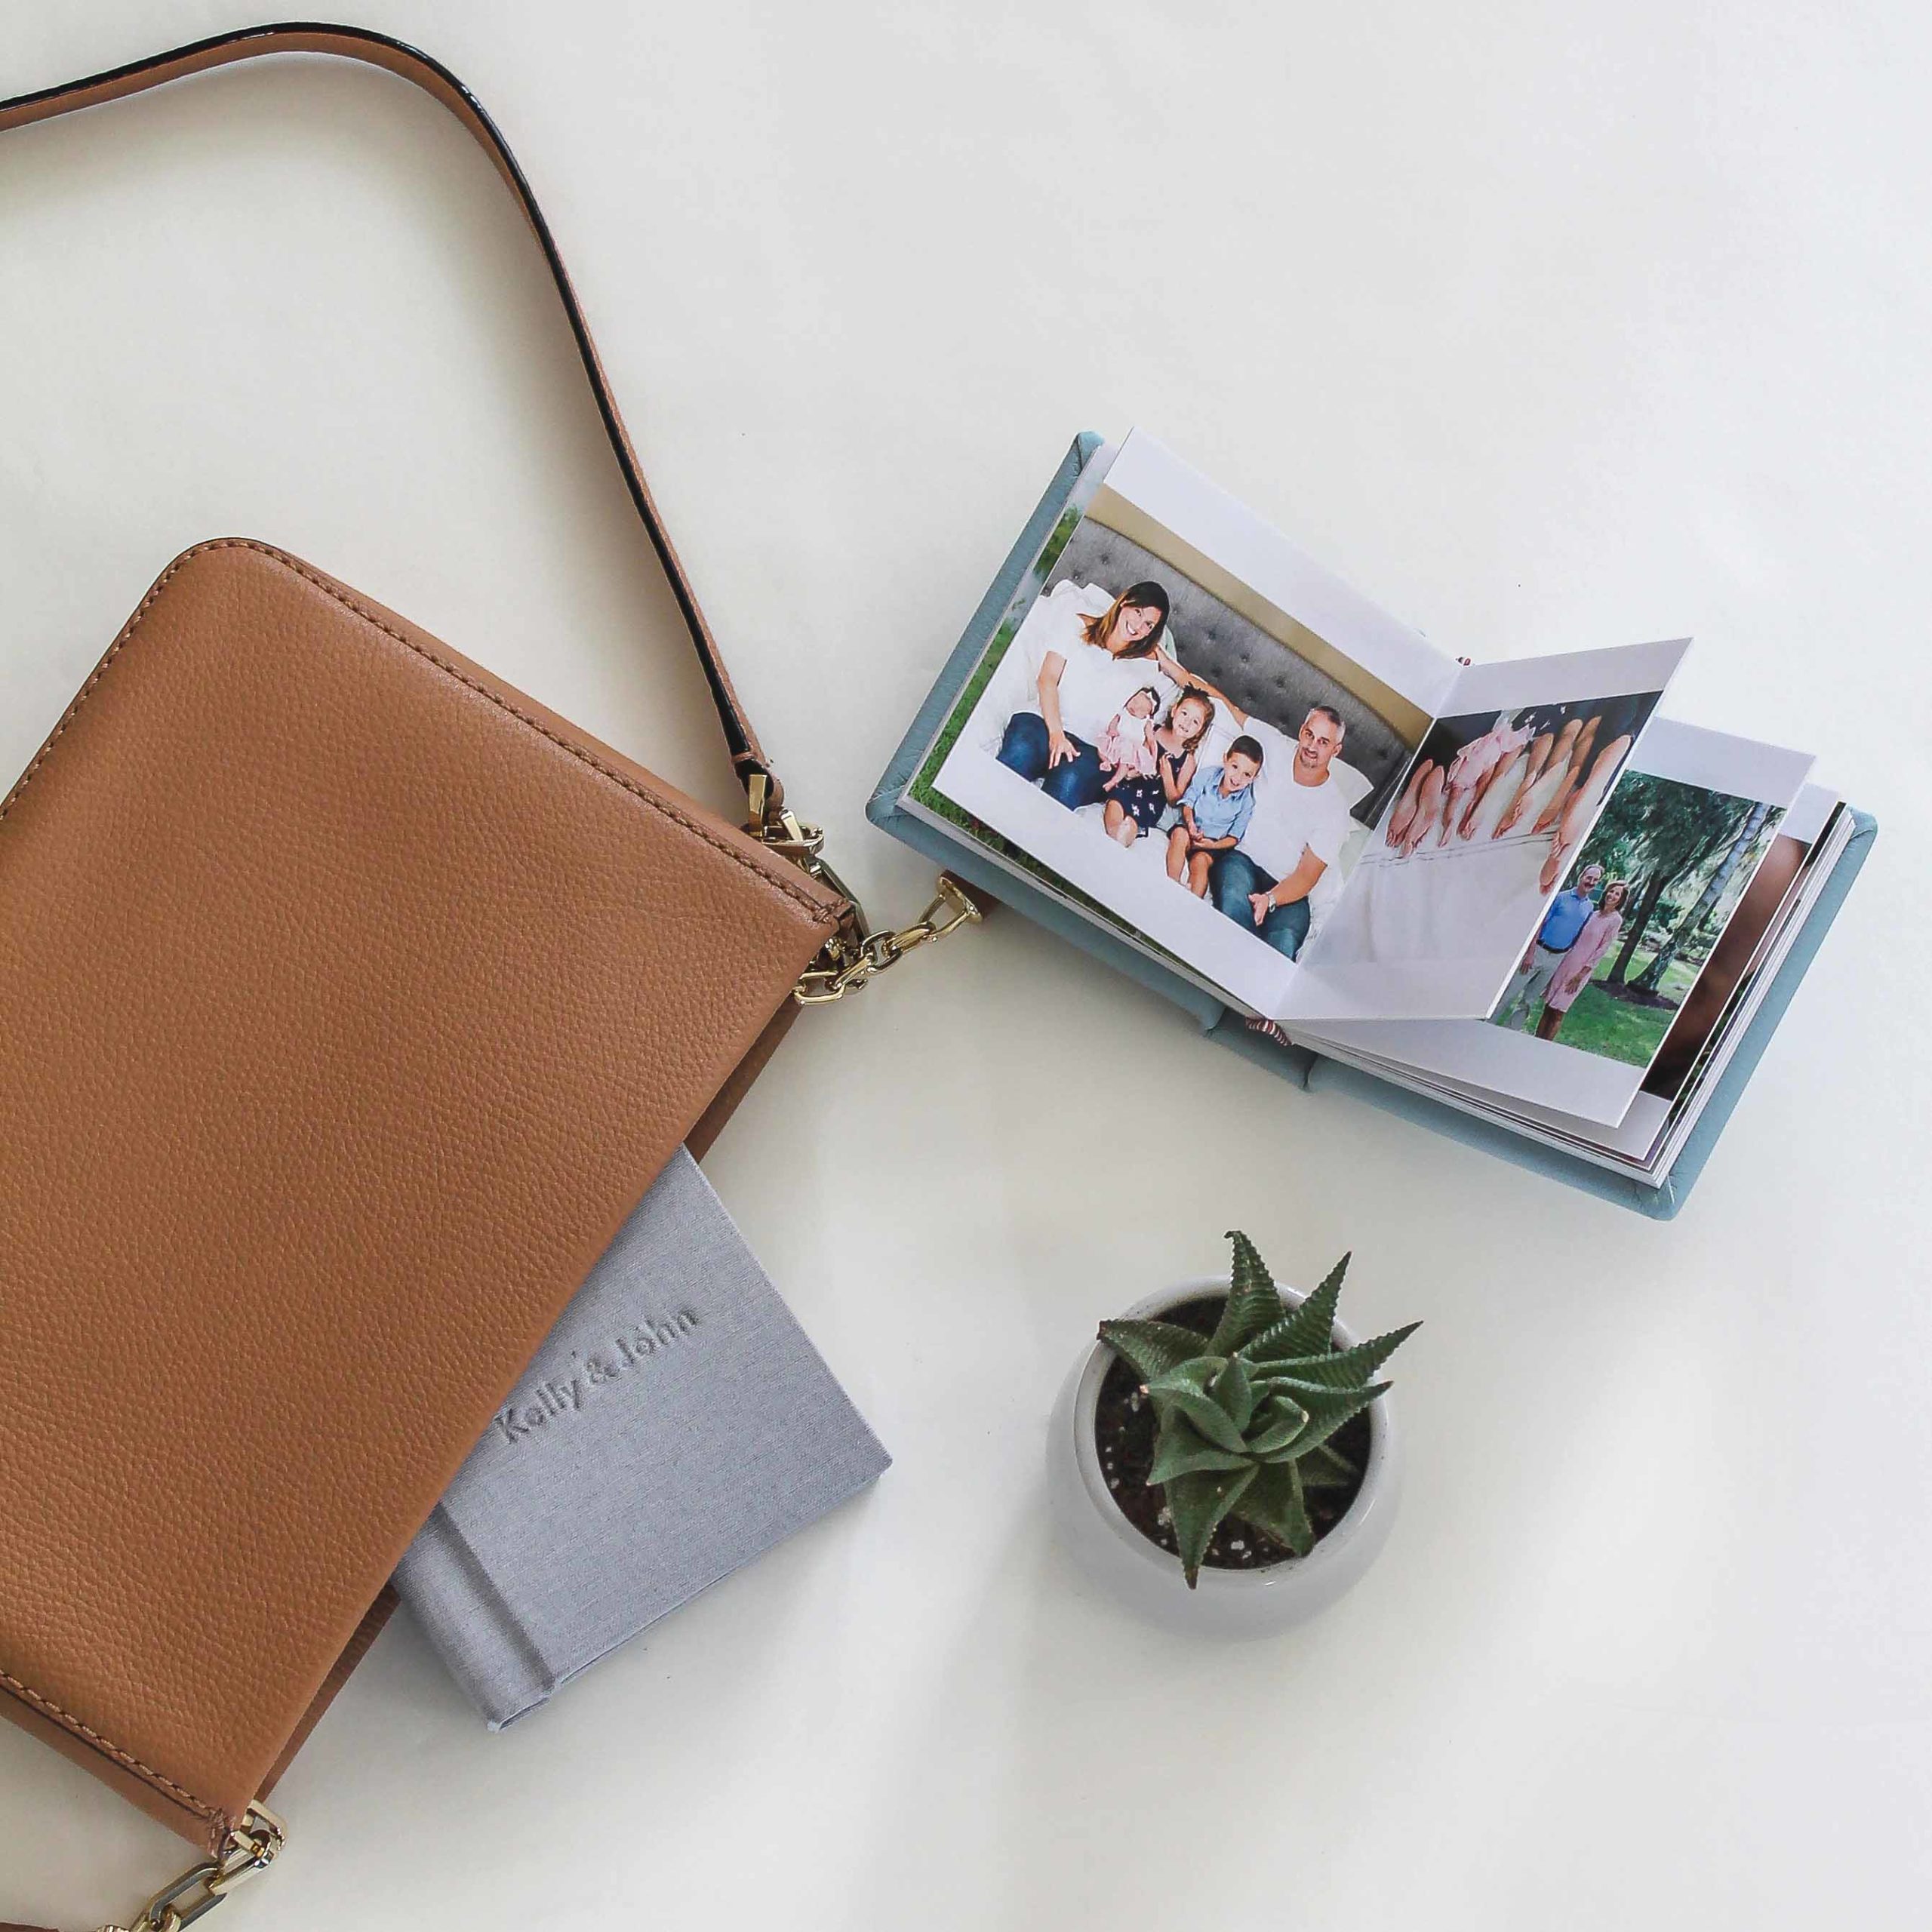
<svg viewBox="0 0 1932 1932">
<path fill-rule="evenodd" d="M 1308 895 L 1349 837 L 1349 806 L 1329 773 L 1347 726 L 1316 705 L 1298 738 L 1258 717 L 1246 732 L 1262 746 L 1254 817 L 1240 844 L 1213 862 L 1208 891 L 1231 920 L 1294 958 L 1308 937 Z"/>
</svg>

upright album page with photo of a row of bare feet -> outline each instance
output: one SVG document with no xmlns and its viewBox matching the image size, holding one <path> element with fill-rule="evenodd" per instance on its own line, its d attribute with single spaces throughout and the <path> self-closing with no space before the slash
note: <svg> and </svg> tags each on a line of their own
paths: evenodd
<svg viewBox="0 0 1932 1932">
<path fill-rule="evenodd" d="M 1488 1014 L 1687 649 L 1677 638 L 1464 667 L 1277 1016 Z"/>
</svg>

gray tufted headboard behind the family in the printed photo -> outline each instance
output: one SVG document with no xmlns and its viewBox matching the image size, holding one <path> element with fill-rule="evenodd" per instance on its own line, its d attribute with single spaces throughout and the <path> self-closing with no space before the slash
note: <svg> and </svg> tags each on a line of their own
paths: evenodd
<svg viewBox="0 0 1932 1932">
<path fill-rule="evenodd" d="M 1310 705 L 1333 705 L 1349 734 L 1341 755 L 1370 781 L 1374 790 L 1354 817 L 1374 825 L 1389 790 L 1408 765 L 1408 744 L 1387 719 L 1325 670 L 1298 657 L 1260 624 L 1231 611 L 1192 578 L 1151 551 L 1092 518 L 1080 524 L 1047 576 L 1055 583 L 1099 583 L 1119 595 L 1130 583 L 1151 580 L 1169 599 L 1169 649 L 1188 670 L 1219 686 L 1242 711 L 1267 719 L 1291 738 L 1302 728 Z"/>
</svg>

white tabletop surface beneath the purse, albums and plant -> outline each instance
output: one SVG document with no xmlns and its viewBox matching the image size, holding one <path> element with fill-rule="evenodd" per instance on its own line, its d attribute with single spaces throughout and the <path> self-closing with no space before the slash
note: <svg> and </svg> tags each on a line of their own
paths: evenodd
<svg viewBox="0 0 1932 1932">
<path fill-rule="evenodd" d="M 4 0 L 0 93 L 247 17 Z M 357 17 L 518 147 L 875 908 L 929 867 L 873 779 L 1068 437 L 1130 423 L 1455 653 L 1694 632 L 1671 707 L 1814 746 L 1884 837 L 1675 1225 L 1302 1095 L 1016 918 L 808 1016 L 709 1171 L 896 1468 L 504 1737 L 398 1619 L 214 1924 L 1924 1924 L 1924 10 Z M 8 135 L 0 398 L 8 773 L 240 531 L 728 800 L 537 257 L 400 83 Z M 1171 1155 L 1090 1099 L 1128 1045 Z M 1041 1437 L 1233 1225 L 1426 1325 L 1387 1553 L 1219 1650 L 1078 1580 Z M 0 1725 L 0 1911 L 93 1924 L 178 1853 Z"/>
</svg>

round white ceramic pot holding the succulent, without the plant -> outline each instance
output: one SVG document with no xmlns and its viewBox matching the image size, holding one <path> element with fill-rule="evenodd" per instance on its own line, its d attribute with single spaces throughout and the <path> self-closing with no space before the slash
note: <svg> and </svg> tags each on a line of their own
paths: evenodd
<svg viewBox="0 0 1932 1932">
<path fill-rule="evenodd" d="M 1204 1294 L 1227 1294 L 1227 1277 L 1202 1275 L 1150 1294 L 1126 1312 L 1134 1318 L 1159 1318 Z M 1302 1300 L 1293 1289 L 1283 1289 L 1281 1298 L 1289 1308 Z M 1337 1321 L 1335 1341 L 1349 1349 L 1358 1337 Z M 1053 1405 L 1047 1497 L 1072 1557 L 1134 1611 L 1196 1636 L 1271 1636 L 1327 1609 L 1376 1561 L 1389 1536 L 1399 1488 L 1397 1434 L 1387 1395 L 1368 1406 L 1370 1447 L 1362 1488 L 1349 1513 L 1308 1555 L 1287 1557 L 1269 1569 L 1202 1569 L 1200 1584 L 1190 1590 L 1180 1575 L 1180 1559 L 1159 1544 L 1150 1544 L 1128 1522 L 1101 1474 L 1094 1410 L 1113 1360 L 1113 1350 L 1095 1343 L 1074 1364 Z"/>
</svg>

